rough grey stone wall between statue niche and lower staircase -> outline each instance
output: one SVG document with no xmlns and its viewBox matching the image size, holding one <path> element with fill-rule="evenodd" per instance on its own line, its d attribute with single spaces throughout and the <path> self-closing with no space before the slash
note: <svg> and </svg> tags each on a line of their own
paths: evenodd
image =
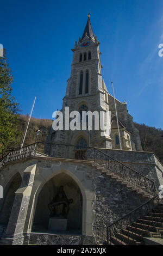
<svg viewBox="0 0 163 256">
<path fill-rule="evenodd" d="M 96 199 L 93 202 L 93 211 L 96 212 L 93 223 L 93 235 L 96 244 L 106 241 L 106 226 L 118 218 L 123 217 L 137 206 L 145 203 L 136 192 L 126 186 L 96 171 L 93 176 Z"/>
</svg>

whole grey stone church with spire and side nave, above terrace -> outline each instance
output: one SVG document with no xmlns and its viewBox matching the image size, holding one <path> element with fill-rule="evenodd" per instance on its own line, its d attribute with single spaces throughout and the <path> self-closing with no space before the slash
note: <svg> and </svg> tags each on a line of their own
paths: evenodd
<svg viewBox="0 0 163 256">
<path fill-rule="evenodd" d="M 54 131 L 51 129 L 47 138 L 48 143 L 74 145 L 79 149 L 83 147 L 120 149 L 114 97 L 108 93 L 102 78 L 99 44 L 97 36 L 93 33 L 90 15 L 88 15 L 83 36 L 79 38 L 78 42 L 75 42 L 74 48 L 71 49 L 73 52 L 71 75 L 67 80 L 66 95 L 61 112 L 67 117 L 65 107 L 69 107 L 69 113 L 78 111 L 80 121 L 83 121 L 82 112 L 90 111 L 93 122 L 91 126 L 86 122 L 85 130 L 82 129 L 82 126 L 80 130 L 69 130 L 69 127 L 65 129 L 65 125 L 64 130 Z M 142 150 L 139 131 L 134 126 L 133 117 L 128 113 L 126 100 L 121 102 L 115 99 L 115 101 L 122 149 Z M 95 111 L 99 114 L 99 129 L 95 129 L 93 115 Z M 102 112 L 110 113 L 110 117 L 106 120 L 105 116 L 101 122 L 100 113 Z M 69 119 L 69 115 L 67 118 Z M 71 121 L 71 118 L 69 120 Z M 109 133 L 102 132 L 106 127 L 109 129 Z M 48 151 L 48 154 L 53 156 L 51 150 Z"/>
</svg>

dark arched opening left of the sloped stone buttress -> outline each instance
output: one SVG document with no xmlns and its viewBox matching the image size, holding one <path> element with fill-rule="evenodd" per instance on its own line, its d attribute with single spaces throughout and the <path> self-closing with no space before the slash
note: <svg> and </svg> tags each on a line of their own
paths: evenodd
<svg viewBox="0 0 163 256">
<path fill-rule="evenodd" d="M 0 226 L 7 227 L 12 205 L 15 199 L 15 192 L 21 186 L 22 178 L 20 173 L 16 173 L 8 182 L 4 190 L 4 199 L 0 210 Z"/>
</svg>

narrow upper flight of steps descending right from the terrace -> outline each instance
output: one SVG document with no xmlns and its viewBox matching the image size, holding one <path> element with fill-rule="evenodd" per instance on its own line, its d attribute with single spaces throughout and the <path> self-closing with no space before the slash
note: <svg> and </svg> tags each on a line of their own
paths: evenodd
<svg viewBox="0 0 163 256">
<path fill-rule="evenodd" d="M 120 182 L 122 185 L 126 186 L 130 190 L 136 192 L 137 194 L 140 194 L 143 198 L 150 199 L 152 198 L 152 194 L 149 194 L 145 191 L 143 191 L 140 187 L 136 186 L 135 184 L 132 184 L 131 182 L 123 179 L 122 177 L 118 176 L 117 174 L 114 174 L 113 172 L 110 172 L 109 170 L 105 169 L 98 163 L 93 163 L 93 167 L 96 167 L 96 169 L 101 170 L 103 174 L 106 176 L 109 176 L 111 179 L 115 179 L 117 182 Z"/>
</svg>

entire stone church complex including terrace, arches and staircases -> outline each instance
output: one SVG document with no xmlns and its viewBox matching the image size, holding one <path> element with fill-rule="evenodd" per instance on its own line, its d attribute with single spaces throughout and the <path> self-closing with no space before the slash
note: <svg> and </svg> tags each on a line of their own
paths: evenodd
<svg viewBox="0 0 163 256">
<path fill-rule="evenodd" d="M 95 129 L 95 117 L 92 127 L 86 119 L 85 130 L 52 125 L 46 143 L 4 157 L 0 245 L 148 245 L 162 239 L 163 166 L 142 151 L 127 102 L 108 93 L 99 45 L 88 15 L 71 49 L 60 112 L 78 111 L 80 121 L 83 112 L 109 112 L 103 126 L 110 132 Z"/>
</svg>

